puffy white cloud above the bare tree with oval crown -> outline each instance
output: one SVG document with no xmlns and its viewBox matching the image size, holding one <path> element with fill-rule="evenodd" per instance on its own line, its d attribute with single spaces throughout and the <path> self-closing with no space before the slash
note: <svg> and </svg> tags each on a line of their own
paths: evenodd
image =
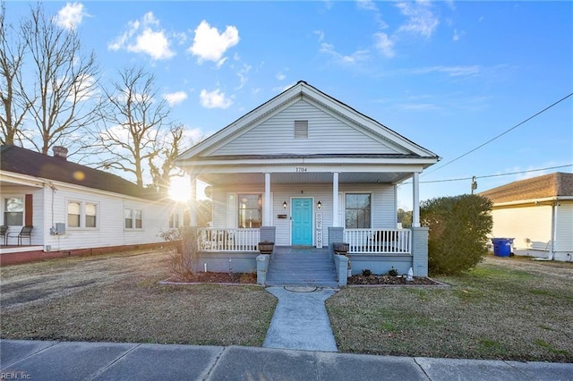
<svg viewBox="0 0 573 381">
<path fill-rule="evenodd" d="M 129 21 L 127 30 L 107 45 L 111 50 L 125 49 L 128 52 L 144 53 L 154 60 L 173 57 L 169 38 L 164 30 L 159 30 L 159 21 L 148 12 L 141 20 Z"/>
</svg>

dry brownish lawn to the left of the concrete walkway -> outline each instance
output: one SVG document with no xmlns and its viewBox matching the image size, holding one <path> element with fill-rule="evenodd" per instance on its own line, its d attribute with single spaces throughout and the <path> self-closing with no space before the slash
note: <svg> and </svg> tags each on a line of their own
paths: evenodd
<svg viewBox="0 0 573 381">
<path fill-rule="evenodd" d="M 259 286 L 160 285 L 166 261 L 155 253 L 6 267 L 2 338 L 261 345 L 277 303 L 272 295 Z M 85 267 L 73 282 L 53 279 Z M 4 294 L 4 286 L 12 291 Z"/>
</svg>

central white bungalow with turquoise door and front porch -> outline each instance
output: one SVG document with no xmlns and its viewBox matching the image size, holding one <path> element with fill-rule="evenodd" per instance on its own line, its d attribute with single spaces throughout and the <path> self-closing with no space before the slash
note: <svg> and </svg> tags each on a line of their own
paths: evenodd
<svg viewBox="0 0 573 381">
<path fill-rule="evenodd" d="M 252 269 L 260 241 L 324 248 L 330 255 L 333 243 L 346 242 L 353 273 L 413 267 L 425 276 L 418 175 L 438 160 L 299 81 L 185 151 L 176 165 L 192 182 L 211 187 L 212 227 L 199 231 L 210 268 L 226 270 L 227 261 L 243 259 L 243 267 Z M 413 227 L 399 229 L 397 186 L 409 179 Z"/>
</svg>

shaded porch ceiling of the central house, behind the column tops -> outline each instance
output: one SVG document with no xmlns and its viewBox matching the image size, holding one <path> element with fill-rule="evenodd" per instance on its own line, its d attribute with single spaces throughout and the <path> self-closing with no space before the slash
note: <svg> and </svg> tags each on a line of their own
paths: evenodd
<svg viewBox="0 0 573 381">
<path fill-rule="evenodd" d="M 396 183 L 411 177 L 411 173 L 389 172 L 389 173 L 340 173 L 339 183 Z M 211 185 L 229 185 L 237 183 L 264 184 L 264 174 L 201 174 L 199 177 L 203 182 Z M 327 172 L 313 173 L 276 173 L 270 174 L 270 183 L 292 184 L 292 183 L 332 183 L 332 174 Z"/>
</svg>

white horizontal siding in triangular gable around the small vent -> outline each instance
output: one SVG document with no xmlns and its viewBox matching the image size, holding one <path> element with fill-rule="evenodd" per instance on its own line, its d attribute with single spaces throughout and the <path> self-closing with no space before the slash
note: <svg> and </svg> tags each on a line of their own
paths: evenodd
<svg viewBox="0 0 573 381">
<path fill-rule="evenodd" d="M 295 138 L 295 121 L 308 122 L 308 138 Z M 285 152 L 287 147 L 288 152 Z M 285 110 L 270 117 L 243 135 L 215 148 L 211 155 L 273 155 L 290 153 L 304 155 L 332 153 L 405 153 L 393 148 L 390 142 L 382 143 L 356 126 L 321 110 L 308 101 L 300 100 Z"/>
</svg>

